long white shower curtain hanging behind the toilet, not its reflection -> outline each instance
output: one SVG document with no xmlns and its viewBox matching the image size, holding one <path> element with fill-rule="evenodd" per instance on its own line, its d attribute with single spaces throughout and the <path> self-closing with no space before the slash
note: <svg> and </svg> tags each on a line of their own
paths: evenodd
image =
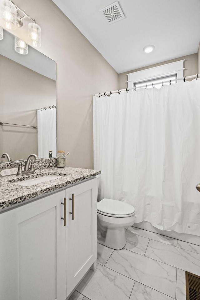
<svg viewBox="0 0 200 300">
<path fill-rule="evenodd" d="M 98 200 L 135 207 L 136 222 L 200 235 L 200 80 L 93 97 Z"/>
</svg>

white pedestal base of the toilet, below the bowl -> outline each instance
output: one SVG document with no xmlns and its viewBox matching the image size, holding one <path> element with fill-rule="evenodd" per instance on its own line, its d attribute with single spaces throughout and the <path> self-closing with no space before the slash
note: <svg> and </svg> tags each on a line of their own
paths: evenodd
<svg viewBox="0 0 200 300">
<path fill-rule="evenodd" d="M 98 237 L 98 243 L 115 250 L 123 249 L 126 245 L 124 227 L 108 228 L 106 237 Z"/>
</svg>

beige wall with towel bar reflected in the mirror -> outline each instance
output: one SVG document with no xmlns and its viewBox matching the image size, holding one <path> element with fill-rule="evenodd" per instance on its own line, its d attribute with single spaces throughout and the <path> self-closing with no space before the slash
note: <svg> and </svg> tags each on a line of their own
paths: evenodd
<svg viewBox="0 0 200 300">
<path fill-rule="evenodd" d="M 2 55 L 0 70 L 0 121 L 37 125 L 37 109 L 56 104 L 56 82 Z M 1 125 L 0 157 L 4 152 L 13 161 L 37 154 L 37 128 Z"/>
</svg>

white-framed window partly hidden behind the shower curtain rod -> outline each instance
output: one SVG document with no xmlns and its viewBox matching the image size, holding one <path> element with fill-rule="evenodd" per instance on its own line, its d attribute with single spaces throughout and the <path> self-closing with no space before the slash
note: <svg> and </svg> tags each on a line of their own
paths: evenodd
<svg viewBox="0 0 200 300">
<path fill-rule="evenodd" d="M 183 64 L 184 64 L 184 60 L 180 60 L 178 62 L 168 63 L 162 66 L 127 74 L 128 88 L 133 88 L 135 86 L 146 87 L 146 85 L 152 85 L 152 83 L 154 84 L 153 86 L 160 88 L 163 83 L 169 84 L 170 80 L 183 78 L 183 70 L 184 70 Z M 156 83 L 158 81 L 159 82 L 161 81 L 161 83 L 160 84 Z M 172 83 L 176 83 L 176 81 L 173 81 Z"/>
</svg>

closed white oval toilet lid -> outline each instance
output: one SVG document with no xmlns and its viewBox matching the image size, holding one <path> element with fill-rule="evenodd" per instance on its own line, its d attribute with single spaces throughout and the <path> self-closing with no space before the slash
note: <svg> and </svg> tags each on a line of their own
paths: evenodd
<svg viewBox="0 0 200 300">
<path fill-rule="evenodd" d="M 128 217 L 134 215 L 135 208 L 123 201 L 104 198 L 97 202 L 97 211 L 107 216 Z"/>
</svg>

